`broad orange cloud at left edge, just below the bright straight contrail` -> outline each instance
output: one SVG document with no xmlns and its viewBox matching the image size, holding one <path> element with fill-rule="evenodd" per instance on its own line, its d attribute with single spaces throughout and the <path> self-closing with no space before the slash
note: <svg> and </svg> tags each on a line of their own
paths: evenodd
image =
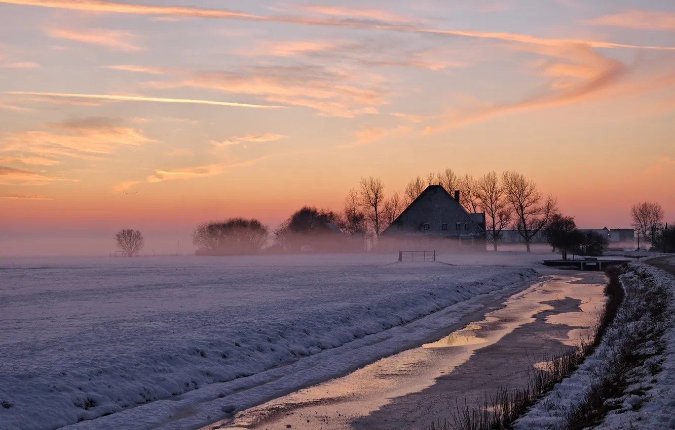
<svg viewBox="0 0 675 430">
<path fill-rule="evenodd" d="M 157 142 L 136 129 L 117 125 L 116 122 L 106 118 L 85 118 L 50 123 L 42 130 L 7 133 L 0 138 L 1 150 L 41 158 L 95 158 L 112 154 L 123 146 Z"/>
</svg>

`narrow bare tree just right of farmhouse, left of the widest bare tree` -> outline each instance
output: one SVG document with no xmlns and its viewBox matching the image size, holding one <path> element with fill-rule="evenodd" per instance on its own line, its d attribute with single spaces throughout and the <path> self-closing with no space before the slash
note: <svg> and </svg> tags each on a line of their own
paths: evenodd
<svg viewBox="0 0 675 430">
<path fill-rule="evenodd" d="M 513 207 L 506 201 L 504 188 L 496 172 L 489 172 L 478 181 L 478 199 L 485 211 L 487 229 L 492 232 L 491 241 L 497 251 L 497 241 L 502 230 L 512 220 Z"/>
</svg>

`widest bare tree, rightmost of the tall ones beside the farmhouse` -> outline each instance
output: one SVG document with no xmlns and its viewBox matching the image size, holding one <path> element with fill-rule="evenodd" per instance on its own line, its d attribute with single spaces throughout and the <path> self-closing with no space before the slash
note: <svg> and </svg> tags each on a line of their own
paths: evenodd
<svg viewBox="0 0 675 430">
<path fill-rule="evenodd" d="M 514 210 L 518 233 L 525 239 L 527 252 L 530 252 L 530 241 L 547 226 L 551 216 L 558 213 L 558 202 L 549 195 L 542 204 L 537 184 L 517 172 L 504 172 L 502 184 L 506 201 Z"/>
</svg>

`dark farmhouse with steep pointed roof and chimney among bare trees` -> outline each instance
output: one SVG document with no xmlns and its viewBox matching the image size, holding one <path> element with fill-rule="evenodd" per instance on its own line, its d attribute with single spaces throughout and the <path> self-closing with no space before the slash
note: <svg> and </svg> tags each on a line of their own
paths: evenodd
<svg viewBox="0 0 675 430">
<path fill-rule="evenodd" d="M 380 235 L 380 249 L 486 250 L 485 214 L 470 214 L 441 185 L 429 185 Z"/>
</svg>

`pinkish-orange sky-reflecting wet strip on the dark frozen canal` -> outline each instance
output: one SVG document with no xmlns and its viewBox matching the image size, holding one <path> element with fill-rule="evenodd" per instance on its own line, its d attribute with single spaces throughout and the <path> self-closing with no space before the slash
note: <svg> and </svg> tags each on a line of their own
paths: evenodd
<svg viewBox="0 0 675 430">
<path fill-rule="evenodd" d="M 292 425 L 294 429 L 353 429 L 362 417 L 367 417 L 395 398 L 422 392 L 433 386 L 438 377 L 452 374 L 476 350 L 491 346 L 524 324 L 536 321 L 535 315 L 554 309 L 549 304 L 553 301 L 562 303 L 570 301 L 570 297 L 576 297 L 572 300 L 584 303 L 582 298 L 593 296 L 595 309 L 595 305 L 601 304 L 601 301 L 595 298 L 595 293 L 590 293 L 589 284 L 572 284 L 582 279 L 565 276 L 536 282 L 507 299 L 504 307 L 486 313 L 482 321 L 468 324 L 437 342 L 385 357 L 344 377 L 244 410 L 236 414 L 234 420 L 223 421 L 219 425 L 221 428 L 237 430 L 285 429 L 287 425 Z M 601 296 L 602 288 L 595 289 L 600 290 Z M 579 305 L 578 309 L 577 312 L 564 313 L 570 315 L 561 319 L 554 317 L 556 315 L 548 315 L 544 319 L 549 322 L 551 318 L 555 321 L 553 324 L 566 324 L 562 321 L 574 319 L 575 324 L 572 326 L 575 329 L 568 333 L 566 339 L 561 339 L 563 342 L 570 342 L 577 336 L 575 330 L 584 327 L 582 322 L 594 320 L 595 314 L 580 315 L 587 313 L 585 310 L 591 309 L 590 306 Z M 574 318 L 571 314 L 575 315 Z M 524 369 L 510 370 L 518 372 Z M 491 378 L 491 369 L 485 369 L 482 373 L 481 377 Z M 384 423 L 384 427 L 389 426 Z M 400 423 L 394 425 L 391 422 L 391 428 L 394 427 L 399 428 Z M 205 427 L 213 428 L 213 425 Z"/>
</svg>

